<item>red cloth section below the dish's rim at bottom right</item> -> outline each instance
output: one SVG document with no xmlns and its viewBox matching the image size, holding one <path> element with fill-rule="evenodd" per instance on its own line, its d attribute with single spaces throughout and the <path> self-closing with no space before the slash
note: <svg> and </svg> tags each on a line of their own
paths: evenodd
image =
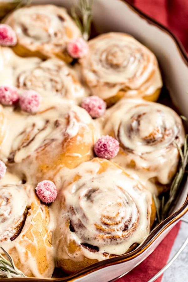
<svg viewBox="0 0 188 282">
<path fill-rule="evenodd" d="M 178 222 L 175 227 L 168 233 L 159 246 L 153 253 L 147 257 L 141 264 L 135 267 L 132 271 L 124 277 L 116 280 L 116 282 L 147 282 L 159 270 L 161 270 L 168 261 L 171 248 L 174 244 L 175 238 L 178 235 L 181 222 Z M 160 282 L 162 276 L 156 282 Z"/>
</svg>

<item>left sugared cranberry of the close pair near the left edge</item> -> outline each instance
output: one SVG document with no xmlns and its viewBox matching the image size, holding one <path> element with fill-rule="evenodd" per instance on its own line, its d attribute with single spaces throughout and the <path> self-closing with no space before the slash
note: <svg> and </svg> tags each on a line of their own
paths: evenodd
<svg viewBox="0 0 188 282">
<path fill-rule="evenodd" d="M 3 105 L 13 105 L 19 99 L 18 90 L 13 86 L 0 87 L 0 103 Z"/>
</svg>

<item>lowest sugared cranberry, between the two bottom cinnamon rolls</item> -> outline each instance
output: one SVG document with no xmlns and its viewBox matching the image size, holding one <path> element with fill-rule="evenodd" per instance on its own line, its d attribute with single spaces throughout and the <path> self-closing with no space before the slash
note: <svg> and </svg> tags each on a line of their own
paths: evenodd
<svg viewBox="0 0 188 282">
<path fill-rule="evenodd" d="M 46 204 L 55 201 L 55 198 L 57 197 L 56 186 L 54 182 L 50 180 L 43 180 L 39 182 L 35 189 L 39 199 Z"/>
</svg>

